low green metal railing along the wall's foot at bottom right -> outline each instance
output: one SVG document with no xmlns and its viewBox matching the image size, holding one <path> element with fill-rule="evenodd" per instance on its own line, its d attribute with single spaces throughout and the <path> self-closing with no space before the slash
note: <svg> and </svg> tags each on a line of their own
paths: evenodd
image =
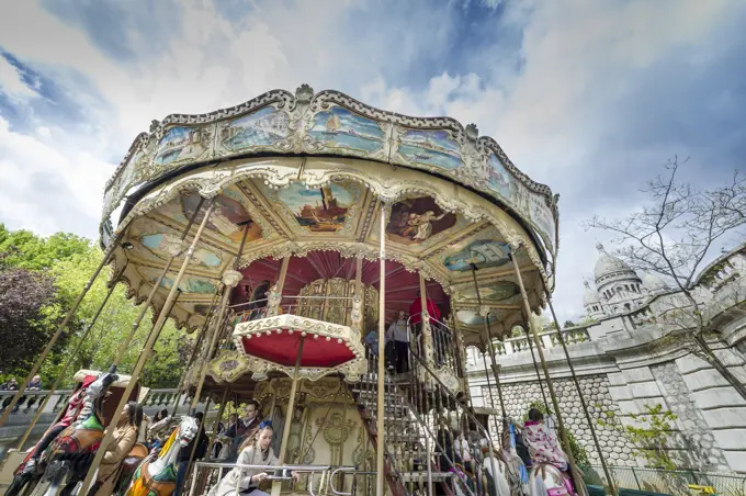
<svg viewBox="0 0 746 496">
<path fill-rule="evenodd" d="M 586 465 L 581 470 L 587 484 L 606 485 L 606 476 L 600 465 Z M 609 466 L 609 471 L 614 485 L 619 488 L 678 496 L 697 494 L 689 485 L 704 485 L 714 487 L 720 496 L 746 496 L 746 475 L 741 474 L 631 466 Z"/>
</svg>

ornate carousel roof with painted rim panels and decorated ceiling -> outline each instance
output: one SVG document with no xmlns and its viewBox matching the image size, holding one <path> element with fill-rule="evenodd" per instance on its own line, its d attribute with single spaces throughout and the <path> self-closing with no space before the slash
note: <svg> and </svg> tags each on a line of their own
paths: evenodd
<svg viewBox="0 0 746 496">
<path fill-rule="evenodd" d="M 553 285 L 556 198 L 495 140 L 477 137 L 476 126 L 448 117 L 403 116 L 303 86 L 295 95 L 276 90 L 211 114 L 154 121 L 106 184 L 101 223 L 102 246 L 132 297 L 144 301 L 166 261 L 183 251 L 201 198 L 214 198 L 215 210 L 172 311 L 190 329 L 203 324 L 247 225 L 245 281 L 274 280 L 279 259 L 293 255 L 283 291 L 292 296 L 318 279 L 354 278 L 360 256 L 363 283 L 377 286 L 382 204 L 387 315 L 409 307 L 419 272 L 428 295 L 456 309 L 460 328 L 476 336 L 488 307 L 497 331 L 510 329 L 521 307 L 509 253 L 534 307 L 539 278 Z M 201 221 L 197 214 L 192 233 Z M 156 307 L 182 261 L 163 279 Z M 246 300 L 242 288 L 233 303 Z"/>
</svg>

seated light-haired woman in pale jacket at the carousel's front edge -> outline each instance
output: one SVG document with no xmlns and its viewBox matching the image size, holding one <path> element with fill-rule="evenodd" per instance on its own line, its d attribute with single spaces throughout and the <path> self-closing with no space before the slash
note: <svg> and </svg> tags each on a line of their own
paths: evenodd
<svg viewBox="0 0 746 496">
<path fill-rule="evenodd" d="M 272 422 L 264 420 L 259 424 L 256 437 L 244 441 L 239 451 L 238 465 L 276 465 L 278 459 L 272 451 Z M 221 481 L 210 496 L 268 496 L 259 491 L 259 485 L 267 481 L 269 474 L 259 469 L 233 469 Z"/>
</svg>

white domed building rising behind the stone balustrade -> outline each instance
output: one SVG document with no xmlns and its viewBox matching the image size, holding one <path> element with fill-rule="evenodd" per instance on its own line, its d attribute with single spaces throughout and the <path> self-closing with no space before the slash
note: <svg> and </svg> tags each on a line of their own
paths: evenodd
<svg viewBox="0 0 746 496">
<path fill-rule="evenodd" d="M 599 252 L 594 269 L 596 289 L 586 281 L 583 304 L 591 318 L 630 312 L 641 306 L 651 295 L 667 291 L 666 283 L 655 274 L 643 279 L 621 259 L 609 255 L 603 245 L 596 245 Z"/>
</svg>

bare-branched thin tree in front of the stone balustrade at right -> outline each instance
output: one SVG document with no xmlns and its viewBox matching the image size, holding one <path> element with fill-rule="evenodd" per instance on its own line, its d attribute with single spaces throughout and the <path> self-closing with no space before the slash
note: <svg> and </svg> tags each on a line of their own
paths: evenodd
<svg viewBox="0 0 746 496">
<path fill-rule="evenodd" d="M 697 297 L 694 281 L 702 264 L 722 244 L 743 239 L 746 228 L 746 177 L 738 171 L 722 187 L 700 190 L 681 182 L 677 157 L 666 172 L 643 190 L 649 203 L 626 217 L 587 221 L 587 228 L 611 232 L 622 248 L 615 255 L 633 269 L 671 281 L 680 297 L 663 314 L 667 324 L 691 339 L 692 351 L 707 360 L 746 399 L 746 386 L 723 364 L 707 342 L 717 329 L 705 320 L 707 302 Z"/>
</svg>

